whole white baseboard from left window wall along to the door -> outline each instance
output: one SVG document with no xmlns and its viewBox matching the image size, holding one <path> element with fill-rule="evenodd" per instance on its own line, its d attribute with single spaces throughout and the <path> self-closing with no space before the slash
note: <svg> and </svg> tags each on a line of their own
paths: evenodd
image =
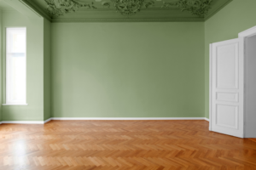
<svg viewBox="0 0 256 170">
<path fill-rule="evenodd" d="M 51 117 L 45 121 L 3 121 L 0 124 L 45 124 L 55 121 L 201 121 L 206 117 Z"/>
</svg>

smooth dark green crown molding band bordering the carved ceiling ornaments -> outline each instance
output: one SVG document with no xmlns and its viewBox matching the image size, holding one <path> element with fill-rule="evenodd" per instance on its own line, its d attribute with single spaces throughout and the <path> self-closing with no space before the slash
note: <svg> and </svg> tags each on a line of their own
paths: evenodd
<svg viewBox="0 0 256 170">
<path fill-rule="evenodd" d="M 183 14 L 180 12 L 180 8 L 143 8 L 143 13 L 140 13 L 136 17 L 121 17 L 115 15 L 114 8 L 97 8 L 84 9 L 79 8 L 76 14 L 64 15 L 61 17 L 53 17 L 44 10 L 42 5 L 39 5 L 36 1 L 32 0 L 19 0 L 27 8 L 31 8 L 32 11 L 46 20 L 53 23 L 74 23 L 74 22 L 204 22 L 211 18 L 214 14 L 218 13 L 221 8 L 224 8 L 232 0 L 220 0 L 215 3 L 212 10 L 206 17 L 189 16 L 186 12 Z M 97 13 L 97 11 L 100 13 Z M 102 13 L 101 13 L 102 12 Z M 157 15 L 155 15 L 157 14 Z M 168 17 L 169 16 L 169 17 Z M 94 18 L 96 17 L 96 18 Z M 151 18 L 150 18 L 151 17 Z M 155 18 L 152 18 L 155 17 Z"/>
</svg>

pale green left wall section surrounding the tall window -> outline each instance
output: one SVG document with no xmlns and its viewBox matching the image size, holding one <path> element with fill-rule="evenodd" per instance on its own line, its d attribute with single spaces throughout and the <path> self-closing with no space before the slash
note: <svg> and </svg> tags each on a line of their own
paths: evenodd
<svg viewBox="0 0 256 170">
<path fill-rule="evenodd" d="M 26 106 L 4 105 L 3 121 L 44 120 L 44 20 L 28 19 L 24 15 L 3 11 L 3 63 L 5 63 L 5 27 L 26 27 Z M 3 103 L 5 102 L 5 65 L 3 65 Z"/>
</svg>

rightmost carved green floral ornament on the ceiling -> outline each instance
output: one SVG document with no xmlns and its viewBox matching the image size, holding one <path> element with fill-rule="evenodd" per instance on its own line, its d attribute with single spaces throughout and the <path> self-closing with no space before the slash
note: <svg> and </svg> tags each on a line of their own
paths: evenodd
<svg viewBox="0 0 256 170">
<path fill-rule="evenodd" d="M 189 11 L 191 14 L 203 17 L 211 8 L 213 0 L 179 0 L 177 3 L 165 3 L 162 8 L 177 6 L 181 11 Z"/>
</svg>

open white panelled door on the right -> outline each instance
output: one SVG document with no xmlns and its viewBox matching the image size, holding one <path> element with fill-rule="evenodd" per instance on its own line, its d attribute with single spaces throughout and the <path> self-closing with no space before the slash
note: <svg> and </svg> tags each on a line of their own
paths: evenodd
<svg viewBox="0 0 256 170">
<path fill-rule="evenodd" d="M 243 38 L 210 45 L 210 130 L 244 137 Z"/>
</svg>

